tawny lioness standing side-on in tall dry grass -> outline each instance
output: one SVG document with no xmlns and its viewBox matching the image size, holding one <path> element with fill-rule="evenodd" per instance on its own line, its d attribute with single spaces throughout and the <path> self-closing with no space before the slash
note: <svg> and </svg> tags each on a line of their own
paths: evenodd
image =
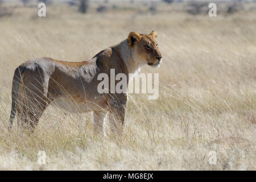
<svg viewBox="0 0 256 182">
<path fill-rule="evenodd" d="M 143 65 L 158 67 L 162 55 L 156 37 L 155 31 L 150 34 L 130 32 L 127 39 L 100 51 L 92 60 L 68 62 L 42 57 L 19 65 L 13 77 L 9 129 L 17 111 L 18 125 L 26 124 L 34 130 L 44 110 L 55 101 L 69 111 L 93 111 L 94 132 L 97 133 L 105 134 L 105 117 L 110 112 L 114 116 L 110 119 L 112 130 L 121 128 L 122 131 L 127 93 L 98 93 L 97 76 L 100 73 L 109 76 L 110 69 L 114 69 L 115 75 L 127 76 L 128 84 L 129 73 L 139 71 Z"/>
</svg>

